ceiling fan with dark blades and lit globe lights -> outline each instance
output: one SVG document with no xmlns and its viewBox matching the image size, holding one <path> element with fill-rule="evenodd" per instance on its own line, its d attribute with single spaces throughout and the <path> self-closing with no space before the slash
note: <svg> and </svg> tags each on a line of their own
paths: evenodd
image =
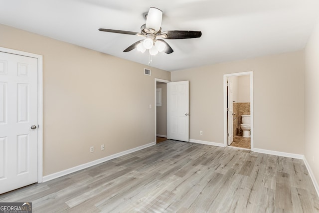
<svg viewBox="0 0 319 213">
<path fill-rule="evenodd" d="M 141 52 L 145 52 L 147 49 L 149 49 L 150 55 L 156 55 L 158 52 L 170 54 L 174 51 L 162 38 L 185 39 L 199 38 L 201 36 L 201 31 L 170 30 L 161 32 L 162 11 L 156 7 L 150 7 L 149 12 L 145 14 L 145 18 L 146 24 L 141 26 L 141 33 L 103 28 L 100 28 L 99 30 L 145 37 L 144 39 L 139 40 L 126 48 L 124 52 L 129 52 L 135 48 Z"/>
</svg>

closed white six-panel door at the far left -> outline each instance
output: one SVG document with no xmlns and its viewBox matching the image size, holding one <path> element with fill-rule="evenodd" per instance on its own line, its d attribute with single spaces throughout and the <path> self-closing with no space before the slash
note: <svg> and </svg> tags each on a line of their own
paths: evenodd
<svg viewBox="0 0 319 213">
<path fill-rule="evenodd" d="M 37 182 L 37 59 L 0 52 L 0 194 Z"/>
</svg>

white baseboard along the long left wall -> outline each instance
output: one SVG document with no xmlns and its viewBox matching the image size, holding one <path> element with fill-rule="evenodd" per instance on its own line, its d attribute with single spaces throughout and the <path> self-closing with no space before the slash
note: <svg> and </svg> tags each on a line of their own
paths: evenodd
<svg viewBox="0 0 319 213">
<path fill-rule="evenodd" d="M 123 152 L 120 152 L 120 153 L 116 153 L 114 155 L 110 155 L 110 156 L 107 156 L 105 158 L 101 158 L 101 159 L 98 159 L 98 160 L 95 160 L 95 161 L 91 161 L 91 162 L 88 162 L 88 163 L 85 163 L 85 164 L 82 164 L 82 165 L 79 165 L 79 166 L 76 166 L 76 167 L 72 167 L 70 169 L 66 169 L 66 170 L 63 170 L 63 171 L 60 171 L 60 172 L 57 172 L 57 173 L 53 173 L 53 174 L 44 176 L 42 182 L 47 182 L 47 181 L 50 181 L 50 180 L 53 180 L 53 179 L 56 179 L 56 178 L 71 174 L 73 172 L 76 172 L 76 171 L 79 171 L 79 170 L 83 170 L 83 169 L 86 169 L 88 167 L 92 167 L 94 165 L 97 165 L 97 164 L 112 160 L 114 158 L 118 158 L 118 157 L 121 157 L 123 155 L 126 155 L 126 154 L 129 154 L 129 153 L 132 153 L 132 152 L 136 152 L 136 151 L 145 149 L 147 147 L 151 147 L 153 145 L 156 145 L 156 142 L 152 142 L 152 143 L 149 143 L 149 144 L 146 144 L 146 145 L 143 145 L 143 146 L 139 146 L 139 147 L 136 147 L 136 148 L 133 148 L 133 149 L 130 149 L 130 150 L 126 150 L 126 151 L 123 151 Z"/>
</svg>

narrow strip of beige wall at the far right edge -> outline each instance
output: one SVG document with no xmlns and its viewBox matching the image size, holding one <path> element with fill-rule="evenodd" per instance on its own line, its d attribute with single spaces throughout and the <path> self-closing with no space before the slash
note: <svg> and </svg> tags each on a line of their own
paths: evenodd
<svg viewBox="0 0 319 213">
<path fill-rule="evenodd" d="M 319 183 L 319 20 L 305 50 L 305 156 Z"/>
</svg>

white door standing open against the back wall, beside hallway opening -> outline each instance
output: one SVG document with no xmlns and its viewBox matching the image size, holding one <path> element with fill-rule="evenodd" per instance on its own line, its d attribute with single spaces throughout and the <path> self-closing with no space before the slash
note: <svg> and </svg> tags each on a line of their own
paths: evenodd
<svg viewBox="0 0 319 213">
<path fill-rule="evenodd" d="M 167 139 L 189 141 L 189 83 L 167 83 Z"/>
</svg>

